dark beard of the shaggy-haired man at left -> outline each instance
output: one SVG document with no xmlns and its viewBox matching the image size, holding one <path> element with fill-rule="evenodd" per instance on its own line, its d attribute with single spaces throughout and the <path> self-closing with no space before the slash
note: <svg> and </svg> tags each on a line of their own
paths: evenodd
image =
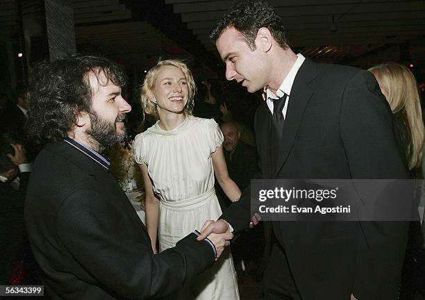
<svg viewBox="0 0 425 300">
<path fill-rule="evenodd" d="M 86 130 L 85 133 L 89 135 L 94 142 L 99 143 L 100 150 L 110 147 L 113 144 L 124 141 L 126 138 L 125 128 L 122 133 L 117 133 L 116 122 L 118 120 L 124 120 L 126 115 L 120 113 L 114 122 L 110 122 L 107 119 L 103 119 L 96 112 L 90 113 L 91 128 Z"/>
</svg>

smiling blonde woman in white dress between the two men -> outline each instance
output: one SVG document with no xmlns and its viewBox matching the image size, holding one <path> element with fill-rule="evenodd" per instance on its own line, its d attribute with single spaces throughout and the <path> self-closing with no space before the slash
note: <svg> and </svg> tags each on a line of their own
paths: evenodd
<svg viewBox="0 0 425 300">
<path fill-rule="evenodd" d="M 134 156 L 142 169 L 147 229 L 156 253 L 157 239 L 164 251 L 221 215 L 214 175 L 229 199 L 237 201 L 241 194 L 228 176 L 219 126 L 192 116 L 195 90 L 190 70 L 179 60 L 160 61 L 142 85 L 144 113 L 158 122 L 136 136 Z M 239 299 L 229 251 L 170 298 Z"/>
</svg>

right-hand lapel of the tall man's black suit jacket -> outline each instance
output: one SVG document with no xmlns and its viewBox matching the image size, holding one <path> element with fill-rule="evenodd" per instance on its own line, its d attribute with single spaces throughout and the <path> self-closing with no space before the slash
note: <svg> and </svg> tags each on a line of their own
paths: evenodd
<svg viewBox="0 0 425 300">
<path fill-rule="evenodd" d="M 317 76 L 315 64 L 308 60 L 301 65 L 292 85 L 286 114 L 285 126 L 283 126 L 282 142 L 278 149 L 278 163 L 274 169 L 274 177 L 282 169 L 297 137 L 299 125 L 301 124 L 304 111 L 313 95 L 313 88 L 309 85 Z"/>
</svg>

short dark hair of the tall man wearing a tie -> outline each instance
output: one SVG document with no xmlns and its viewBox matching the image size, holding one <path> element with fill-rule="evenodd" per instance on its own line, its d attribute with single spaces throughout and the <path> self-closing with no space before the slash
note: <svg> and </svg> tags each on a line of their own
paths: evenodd
<svg viewBox="0 0 425 300">
<path fill-rule="evenodd" d="M 274 40 L 283 48 L 288 47 L 282 18 L 273 6 L 261 0 L 240 0 L 233 3 L 231 10 L 217 20 L 210 33 L 213 42 L 217 42 L 226 28 L 235 28 L 252 50 L 256 49 L 256 36 L 262 27 L 269 29 Z"/>
</svg>

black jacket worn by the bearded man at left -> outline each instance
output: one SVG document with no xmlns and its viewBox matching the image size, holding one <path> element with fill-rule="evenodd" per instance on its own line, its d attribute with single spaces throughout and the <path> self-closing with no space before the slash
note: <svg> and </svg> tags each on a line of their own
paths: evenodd
<svg viewBox="0 0 425 300">
<path fill-rule="evenodd" d="M 65 142 L 47 144 L 35 160 L 25 220 L 53 299 L 162 297 L 214 262 L 212 247 L 194 233 L 153 255 L 113 176 Z"/>
</svg>

